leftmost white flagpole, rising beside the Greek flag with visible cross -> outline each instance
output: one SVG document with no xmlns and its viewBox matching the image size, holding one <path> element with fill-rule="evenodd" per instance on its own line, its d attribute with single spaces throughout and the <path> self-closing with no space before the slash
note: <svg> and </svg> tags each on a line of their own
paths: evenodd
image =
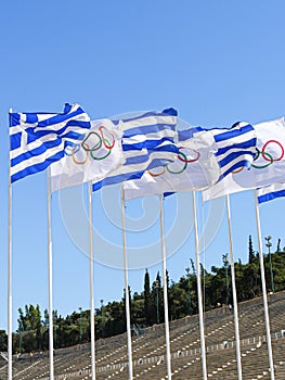
<svg viewBox="0 0 285 380">
<path fill-rule="evenodd" d="M 11 113 L 9 110 L 9 126 L 11 126 Z M 10 134 L 9 134 L 10 136 Z M 9 140 L 9 169 L 8 169 L 8 379 L 12 380 L 12 183 Z"/>
</svg>

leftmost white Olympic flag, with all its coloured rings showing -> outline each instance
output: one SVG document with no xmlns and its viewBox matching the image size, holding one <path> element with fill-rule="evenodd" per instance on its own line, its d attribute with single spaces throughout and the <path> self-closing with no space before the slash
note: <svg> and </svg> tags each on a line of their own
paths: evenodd
<svg viewBox="0 0 285 380">
<path fill-rule="evenodd" d="M 64 157 L 51 165 L 52 191 L 101 180 L 124 164 L 121 124 L 115 126 L 111 119 L 90 124 L 83 139 L 66 147 Z"/>
</svg>

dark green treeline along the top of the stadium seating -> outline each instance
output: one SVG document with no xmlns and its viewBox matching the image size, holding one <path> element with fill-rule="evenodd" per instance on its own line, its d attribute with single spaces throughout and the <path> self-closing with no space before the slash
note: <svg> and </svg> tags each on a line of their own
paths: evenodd
<svg viewBox="0 0 285 380">
<path fill-rule="evenodd" d="M 267 245 L 268 246 L 268 245 Z M 271 246 L 271 245 L 270 245 Z M 285 289 L 285 251 L 280 250 L 280 240 L 275 253 L 264 255 L 264 268 L 268 292 Z M 205 311 L 232 304 L 231 268 L 228 254 L 222 256 L 221 267 L 211 267 L 208 273 L 200 267 L 202 288 L 204 290 Z M 252 249 L 249 237 L 248 263 L 235 263 L 235 280 L 238 302 L 262 294 L 259 254 Z M 131 306 L 131 325 L 140 329 L 164 322 L 164 289 L 159 273 L 152 282 L 147 269 L 144 275 L 144 289 L 139 294 L 128 296 Z M 183 318 L 198 313 L 197 279 L 194 263 L 185 268 L 178 282 L 169 280 L 167 274 L 169 319 Z M 119 334 L 126 331 L 126 292 L 121 301 L 113 301 L 95 309 L 96 339 Z M 49 313 L 41 314 L 39 305 L 26 305 L 18 309 L 18 328 L 13 334 L 13 352 L 44 351 L 49 347 Z M 78 309 L 63 317 L 53 312 L 54 347 L 66 347 L 90 341 L 90 311 Z M 7 351 L 7 333 L 0 331 L 0 351 Z"/>
</svg>

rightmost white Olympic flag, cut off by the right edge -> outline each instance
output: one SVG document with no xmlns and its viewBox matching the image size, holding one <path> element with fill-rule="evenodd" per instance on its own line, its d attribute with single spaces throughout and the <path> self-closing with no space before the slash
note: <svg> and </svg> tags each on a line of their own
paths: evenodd
<svg viewBox="0 0 285 380">
<path fill-rule="evenodd" d="M 257 124 L 254 128 L 257 147 L 250 169 L 234 170 L 210 189 L 203 191 L 204 201 L 285 181 L 284 117 Z"/>
</svg>

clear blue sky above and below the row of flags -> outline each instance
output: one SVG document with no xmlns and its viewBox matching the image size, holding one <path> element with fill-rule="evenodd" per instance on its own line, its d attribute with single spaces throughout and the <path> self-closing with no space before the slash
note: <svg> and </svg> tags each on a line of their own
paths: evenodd
<svg viewBox="0 0 285 380">
<path fill-rule="evenodd" d="M 7 329 L 9 109 L 62 112 L 64 103 L 77 102 L 102 118 L 173 106 L 183 121 L 206 128 L 281 117 L 285 3 L 17 0 L 0 7 L 0 328 Z M 53 305 L 64 316 L 89 307 L 86 192 L 52 199 Z M 119 187 L 93 197 L 96 306 L 122 295 L 119 197 Z M 210 212 L 197 198 L 199 232 L 211 241 L 202 262 L 210 269 L 229 252 L 225 214 L 221 200 Z M 258 250 L 252 192 L 232 195 L 231 204 L 234 255 L 245 263 L 249 235 Z M 177 281 L 194 259 L 191 194 L 164 205 L 167 267 Z M 127 204 L 132 291 L 143 289 L 146 267 L 152 280 L 161 273 L 158 207 L 156 198 Z M 278 238 L 285 245 L 282 207 L 283 200 L 261 207 L 262 233 L 272 236 L 273 248 Z M 12 225 L 15 329 L 18 307 L 48 307 L 46 173 L 14 183 Z"/>
</svg>

